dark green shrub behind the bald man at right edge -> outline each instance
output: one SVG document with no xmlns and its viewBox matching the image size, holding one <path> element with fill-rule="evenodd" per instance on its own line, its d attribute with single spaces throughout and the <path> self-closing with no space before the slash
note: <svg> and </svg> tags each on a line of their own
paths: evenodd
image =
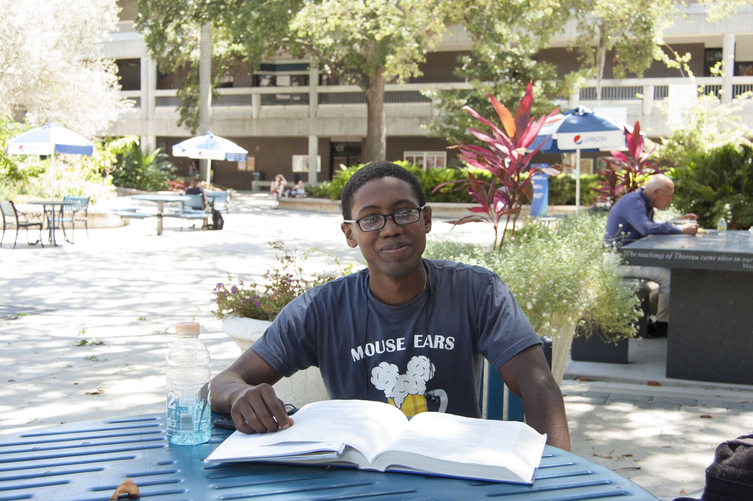
<svg viewBox="0 0 753 501">
<path fill-rule="evenodd" d="M 727 144 L 681 161 L 672 173 L 674 204 L 695 212 L 702 228 L 727 218 L 730 230 L 753 225 L 753 148 Z M 731 216 L 730 216 L 731 213 Z"/>
</svg>

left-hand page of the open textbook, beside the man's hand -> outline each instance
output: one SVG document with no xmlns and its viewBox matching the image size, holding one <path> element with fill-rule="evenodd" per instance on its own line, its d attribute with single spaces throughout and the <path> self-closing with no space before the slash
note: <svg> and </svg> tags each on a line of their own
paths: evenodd
<svg viewBox="0 0 753 501">
<path fill-rule="evenodd" d="M 331 442 L 358 449 L 370 463 L 407 426 L 407 418 L 392 405 L 366 400 L 325 400 L 304 405 L 294 424 L 276 432 L 245 435 L 234 432 L 207 461 L 253 457 L 259 446 L 282 442 Z"/>
</svg>

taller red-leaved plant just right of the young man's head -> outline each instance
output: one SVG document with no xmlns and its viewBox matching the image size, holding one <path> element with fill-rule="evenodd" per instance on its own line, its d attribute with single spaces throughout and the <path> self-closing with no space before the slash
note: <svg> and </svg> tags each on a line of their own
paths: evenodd
<svg viewBox="0 0 753 501">
<path fill-rule="evenodd" d="M 539 173 L 546 173 L 550 176 L 559 175 L 559 170 L 553 167 L 531 166 L 533 155 L 541 149 L 544 142 L 538 148 L 526 154 L 528 147 L 532 144 L 538 131 L 544 125 L 547 118 L 556 114 L 555 109 L 549 115 L 542 115 L 535 120 L 531 118 L 531 105 L 533 104 L 532 82 L 529 82 L 526 93 L 517 105 L 515 118 L 494 96 L 489 94 L 495 112 L 499 116 L 499 121 L 505 129 L 502 131 L 492 122 L 479 115 L 473 108 L 463 106 L 466 112 L 483 124 L 486 124 L 492 130 L 492 136 L 469 127 L 468 130 L 486 143 L 487 148 L 476 145 L 456 145 L 451 148 L 460 149 L 460 160 L 468 165 L 483 169 L 492 173 L 492 182 L 481 181 L 468 173 L 468 180 L 460 179 L 459 181 L 445 182 L 434 188 L 434 191 L 444 188 L 444 186 L 459 183 L 460 186 L 455 190 L 463 188 L 468 189 L 468 194 L 473 197 L 480 206 L 472 207 L 471 212 L 474 214 L 466 215 L 457 221 L 447 221 L 453 225 L 465 225 L 471 222 L 487 222 L 494 227 L 494 248 L 497 243 L 499 249 L 505 243 L 505 235 L 508 232 L 510 218 L 513 220 L 511 237 L 515 236 L 515 223 L 520 215 L 520 209 L 523 206 L 523 197 L 533 200 L 533 176 Z M 499 183 L 499 187 L 497 187 Z M 455 191 L 453 190 L 453 191 Z M 483 215 L 480 215 L 483 214 Z M 505 226 L 502 229 L 502 236 L 499 241 L 498 229 L 501 219 L 505 217 Z"/>
</svg>

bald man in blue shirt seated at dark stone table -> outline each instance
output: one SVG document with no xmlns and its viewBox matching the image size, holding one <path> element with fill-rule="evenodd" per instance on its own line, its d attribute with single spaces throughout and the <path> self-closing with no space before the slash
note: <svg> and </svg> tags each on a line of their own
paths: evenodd
<svg viewBox="0 0 753 501">
<path fill-rule="evenodd" d="M 685 214 L 687 223 L 681 228 L 669 222 L 654 222 L 654 209 L 664 209 L 672 202 L 675 183 L 663 174 L 654 174 L 648 183 L 637 191 L 624 195 L 614 203 L 607 218 L 607 231 L 604 241 L 611 246 L 621 247 L 650 234 L 694 235 L 698 231 L 695 214 Z M 659 284 L 659 304 L 656 322 L 648 325 L 648 334 L 654 337 L 666 336 L 669 322 L 669 268 L 656 266 L 620 265 L 617 270 L 622 276 L 651 280 Z"/>
</svg>

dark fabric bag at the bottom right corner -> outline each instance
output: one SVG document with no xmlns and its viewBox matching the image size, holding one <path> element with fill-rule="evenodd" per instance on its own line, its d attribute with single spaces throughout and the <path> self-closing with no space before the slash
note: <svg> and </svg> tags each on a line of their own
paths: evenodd
<svg viewBox="0 0 753 501">
<path fill-rule="evenodd" d="M 703 501 L 750 501 L 753 499 L 753 433 L 722 442 L 714 462 L 706 469 Z M 678 497 L 675 501 L 696 501 Z"/>
</svg>

